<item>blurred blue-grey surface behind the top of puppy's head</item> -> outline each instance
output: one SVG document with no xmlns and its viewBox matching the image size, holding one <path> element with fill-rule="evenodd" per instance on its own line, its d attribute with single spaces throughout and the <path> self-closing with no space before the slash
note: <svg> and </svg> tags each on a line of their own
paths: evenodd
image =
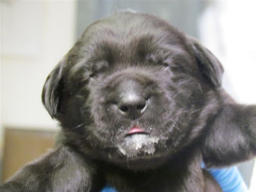
<svg viewBox="0 0 256 192">
<path fill-rule="evenodd" d="M 198 36 L 197 19 L 204 8 L 203 0 L 189 1 L 122 1 L 122 0 L 88 0 L 77 1 L 77 38 L 84 28 L 96 19 L 106 17 L 118 10 L 130 8 L 140 13 L 152 13 L 165 20 L 185 33 Z"/>
</svg>

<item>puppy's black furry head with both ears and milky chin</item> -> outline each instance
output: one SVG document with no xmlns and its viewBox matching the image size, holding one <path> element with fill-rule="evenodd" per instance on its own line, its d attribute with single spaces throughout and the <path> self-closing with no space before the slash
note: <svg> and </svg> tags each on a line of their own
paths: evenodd
<svg viewBox="0 0 256 192">
<path fill-rule="evenodd" d="M 68 144 L 151 168 L 193 142 L 218 111 L 222 73 L 211 52 L 163 20 L 120 12 L 86 29 L 42 99 Z"/>
</svg>

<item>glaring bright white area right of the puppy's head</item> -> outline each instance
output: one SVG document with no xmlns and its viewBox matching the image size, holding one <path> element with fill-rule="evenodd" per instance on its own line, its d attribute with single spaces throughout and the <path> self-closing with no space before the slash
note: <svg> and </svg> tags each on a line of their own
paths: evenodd
<svg viewBox="0 0 256 192">
<path fill-rule="evenodd" d="M 256 1 L 216 0 L 200 20 L 200 39 L 221 61 L 224 88 L 237 100 L 256 104 Z"/>
</svg>

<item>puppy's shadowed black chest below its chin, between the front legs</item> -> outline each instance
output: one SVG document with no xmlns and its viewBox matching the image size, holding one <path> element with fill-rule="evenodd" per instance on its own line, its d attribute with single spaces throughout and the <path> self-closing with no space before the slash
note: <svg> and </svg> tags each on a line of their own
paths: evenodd
<svg viewBox="0 0 256 192">
<path fill-rule="evenodd" d="M 153 170 L 132 171 L 109 167 L 106 179 L 117 191 L 204 191 L 202 156 L 198 150 L 170 159 Z"/>
</svg>

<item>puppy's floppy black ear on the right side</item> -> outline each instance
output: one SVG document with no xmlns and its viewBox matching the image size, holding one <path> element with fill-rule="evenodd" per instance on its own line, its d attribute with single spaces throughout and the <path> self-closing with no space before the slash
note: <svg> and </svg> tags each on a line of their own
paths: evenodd
<svg viewBox="0 0 256 192">
<path fill-rule="evenodd" d="M 187 37 L 195 51 L 196 61 L 200 70 L 215 88 L 220 88 L 223 75 L 223 67 L 220 61 L 208 49 L 200 45 L 195 38 Z"/>
</svg>

